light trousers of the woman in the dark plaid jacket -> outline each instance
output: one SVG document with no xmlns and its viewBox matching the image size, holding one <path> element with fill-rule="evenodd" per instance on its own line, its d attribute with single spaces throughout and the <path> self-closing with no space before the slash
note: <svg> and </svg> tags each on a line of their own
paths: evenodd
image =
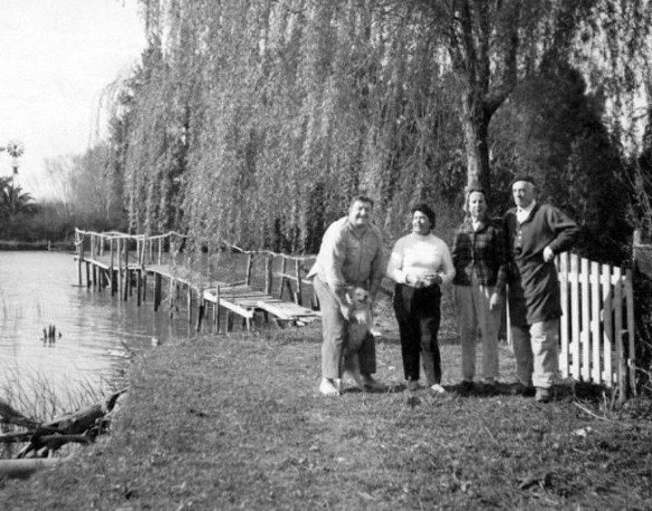
<svg viewBox="0 0 652 511">
<path fill-rule="evenodd" d="M 478 283 L 475 273 L 471 285 L 455 285 L 455 303 L 462 343 L 462 378 L 473 381 L 475 377 L 475 344 L 477 331 L 482 336 L 483 378 L 498 378 L 498 331 L 503 306 L 489 308 L 493 287 Z"/>
</svg>

